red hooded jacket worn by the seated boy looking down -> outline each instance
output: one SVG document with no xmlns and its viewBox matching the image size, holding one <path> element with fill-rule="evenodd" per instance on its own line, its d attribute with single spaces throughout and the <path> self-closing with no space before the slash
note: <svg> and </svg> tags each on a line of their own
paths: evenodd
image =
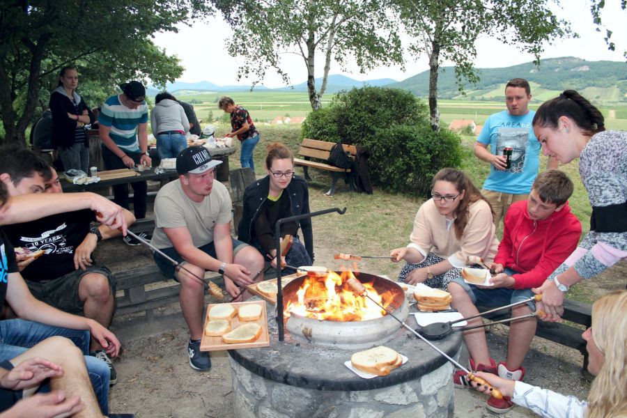
<svg viewBox="0 0 627 418">
<path fill-rule="evenodd" d="M 538 287 L 571 255 L 580 235 L 581 222 L 568 202 L 547 219 L 534 221 L 529 218 L 527 201 L 518 201 L 507 210 L 494 262 L 519 273 L 513 275 L 513 288 Z"/>
</svg>

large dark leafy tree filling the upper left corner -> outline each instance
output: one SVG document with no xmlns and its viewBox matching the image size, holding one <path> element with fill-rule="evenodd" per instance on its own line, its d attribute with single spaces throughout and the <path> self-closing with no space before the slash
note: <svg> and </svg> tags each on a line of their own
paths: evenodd
<svg viewBox="0 0 627 418">
<path fill-rule="evenodd" d="M 183 72 L 178 59 L 156 47 L 156 31 L 176 31 L 199 0 L 0 1 L 0 117 L 7 141 L 24 144 L 38 104 L 47 103 L 56 73 L 79 65 L 85 80 L 110 93 L 118 82 L 149 77 L 157 85 Z M 95 87 L 95 84 L 94 84 Z M 98 91 L 98 88 L 95 88 Z"/>
</svg>

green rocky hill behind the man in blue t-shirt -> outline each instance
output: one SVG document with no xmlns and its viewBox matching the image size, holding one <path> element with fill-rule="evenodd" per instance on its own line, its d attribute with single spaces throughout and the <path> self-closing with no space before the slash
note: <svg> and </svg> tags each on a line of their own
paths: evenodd
<svg viewBox="0 0 627 418">
<path fill-rule="evenodd" d="M 505 68 L 480 68 L 477 84 L 465 83 L 465 100 L 502 100 L 507 80 L 522 77 L 532 84 L 534 101 L 555 97 L 572 88 L 586 98 L 601 103 L 627 103 L 627 63 L 586 61 L 572 56 L 544 59 Z M 403 88 L 420 97 L 428 96 L 429 72 L 424 71 L 387 87 Z M 453 67 L 444 67 L 438 77 L 438 97 L 463 98 L 455 84 Z"/>
</svg>

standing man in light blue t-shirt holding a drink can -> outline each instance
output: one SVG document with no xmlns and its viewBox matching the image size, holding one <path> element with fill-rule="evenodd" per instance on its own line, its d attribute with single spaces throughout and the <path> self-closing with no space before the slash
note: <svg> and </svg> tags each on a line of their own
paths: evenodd
<svg viewBox="0 0 627 418">
<path fill-rule="evenodd" d="M 525 79 L 511 79 L 505 85 L 507 110 L 488 116 L 474 144 L 474 155 L 491 164 L 481 194 L 490 202 L 498 226 L 511 203 L 527 200 L 540 167 L 540 142 L 534 135 L 535 111 L 529 110 L 531 87 Z M 488 146 L 490 148 L 488 148 Z M 511 147 L 511 166 L 506 169 L 503 148 Z M 549 159 L 547 169 L 556 169 Z"/>
</svg>

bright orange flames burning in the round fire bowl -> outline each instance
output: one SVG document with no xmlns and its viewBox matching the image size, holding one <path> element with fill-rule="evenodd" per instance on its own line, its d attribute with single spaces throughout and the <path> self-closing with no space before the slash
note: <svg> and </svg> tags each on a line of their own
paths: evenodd
<svg viewBox="0 0 627 418">
<path fill-rule="evenodd" d="M 289 301 L 285 316 L 291 313 L 319 320 L 356 321 L 380 318 L 386 314 L 367 297 L 355 295 L 346 281 L 353 272 L 343 271 L 341 275 L 329 272 L 326 277 L 308 275 L 296 292 L 298 302 Z M 386 307 L 392 301 L 391 291 L 379 293 L 372 283 L 363 284 L 368 295 Z"/>
</svg>

